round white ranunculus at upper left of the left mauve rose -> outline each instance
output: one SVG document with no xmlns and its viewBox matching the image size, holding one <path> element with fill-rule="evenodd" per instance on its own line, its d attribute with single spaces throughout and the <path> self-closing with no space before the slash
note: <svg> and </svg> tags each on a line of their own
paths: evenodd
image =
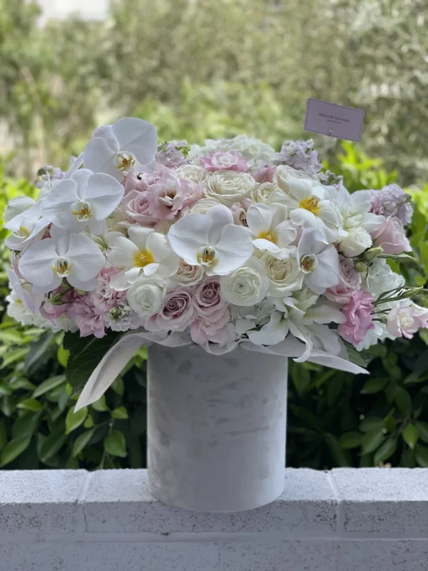
<svg viewBox="0 0 428 571">
<path fill-rule="evenodd" d="M 164 278 L 143 274 L 128 289 L 126 297 L 131 308 L 140 317 L 147 317 L 161 308 L 166 288 L 167 281 Z"/>
</svg>

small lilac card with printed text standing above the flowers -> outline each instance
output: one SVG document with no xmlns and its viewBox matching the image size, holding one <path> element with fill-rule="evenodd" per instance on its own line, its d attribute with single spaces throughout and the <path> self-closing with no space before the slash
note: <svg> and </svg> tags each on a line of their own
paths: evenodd
<svg viewBox="0 0 428 571">
<path fill-rule="evenodd" d="M 306 102 L 305 131 L 358 142 L 363 121 L 362 109 L 336 105 L 320 99 L 309 98 Z"/>
</svg>

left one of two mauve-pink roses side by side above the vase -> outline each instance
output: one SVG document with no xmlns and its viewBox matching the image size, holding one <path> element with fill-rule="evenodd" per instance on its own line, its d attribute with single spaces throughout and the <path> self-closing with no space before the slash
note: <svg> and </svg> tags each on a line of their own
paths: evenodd
<svg viewBox="0 0 428 571">
<path fill-rule="evenodd" d="M 148 331 L 184 331 L 195 319 L 190 288 L 178 288 L 165 295 L 161 310 L 146 320 Z"/>
</svg>

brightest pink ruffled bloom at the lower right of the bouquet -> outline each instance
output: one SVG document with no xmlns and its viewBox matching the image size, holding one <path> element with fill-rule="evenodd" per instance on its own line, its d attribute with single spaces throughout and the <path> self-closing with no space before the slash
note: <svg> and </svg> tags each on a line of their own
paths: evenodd
<svg viewBox="0 0 428 571">
<path fill-rule="evenodd" d="M 352 293 L 349 302 L 342 307 L 342 313 L 346 317 L 345 323 L 340 323 L 337 329 L 339 335 L 357 345 L 365 338 L 369 329 L 373 329 L 372 311 L 374 298 L 371 293 L 356 290 Z"/>
</svg>

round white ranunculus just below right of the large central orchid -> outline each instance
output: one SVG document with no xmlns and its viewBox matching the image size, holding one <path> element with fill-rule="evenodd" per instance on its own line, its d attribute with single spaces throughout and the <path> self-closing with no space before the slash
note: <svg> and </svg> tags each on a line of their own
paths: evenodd
<svg viewBox="0 0 428 571">
<path fill-rule="evenodd" d="M 257 258 L 250 258 L 245 266 L 220 278 L 220 293 L 234 305 L 255 305 L 265 298 L 269 288 L 265 266 Z"/>
</svg>

